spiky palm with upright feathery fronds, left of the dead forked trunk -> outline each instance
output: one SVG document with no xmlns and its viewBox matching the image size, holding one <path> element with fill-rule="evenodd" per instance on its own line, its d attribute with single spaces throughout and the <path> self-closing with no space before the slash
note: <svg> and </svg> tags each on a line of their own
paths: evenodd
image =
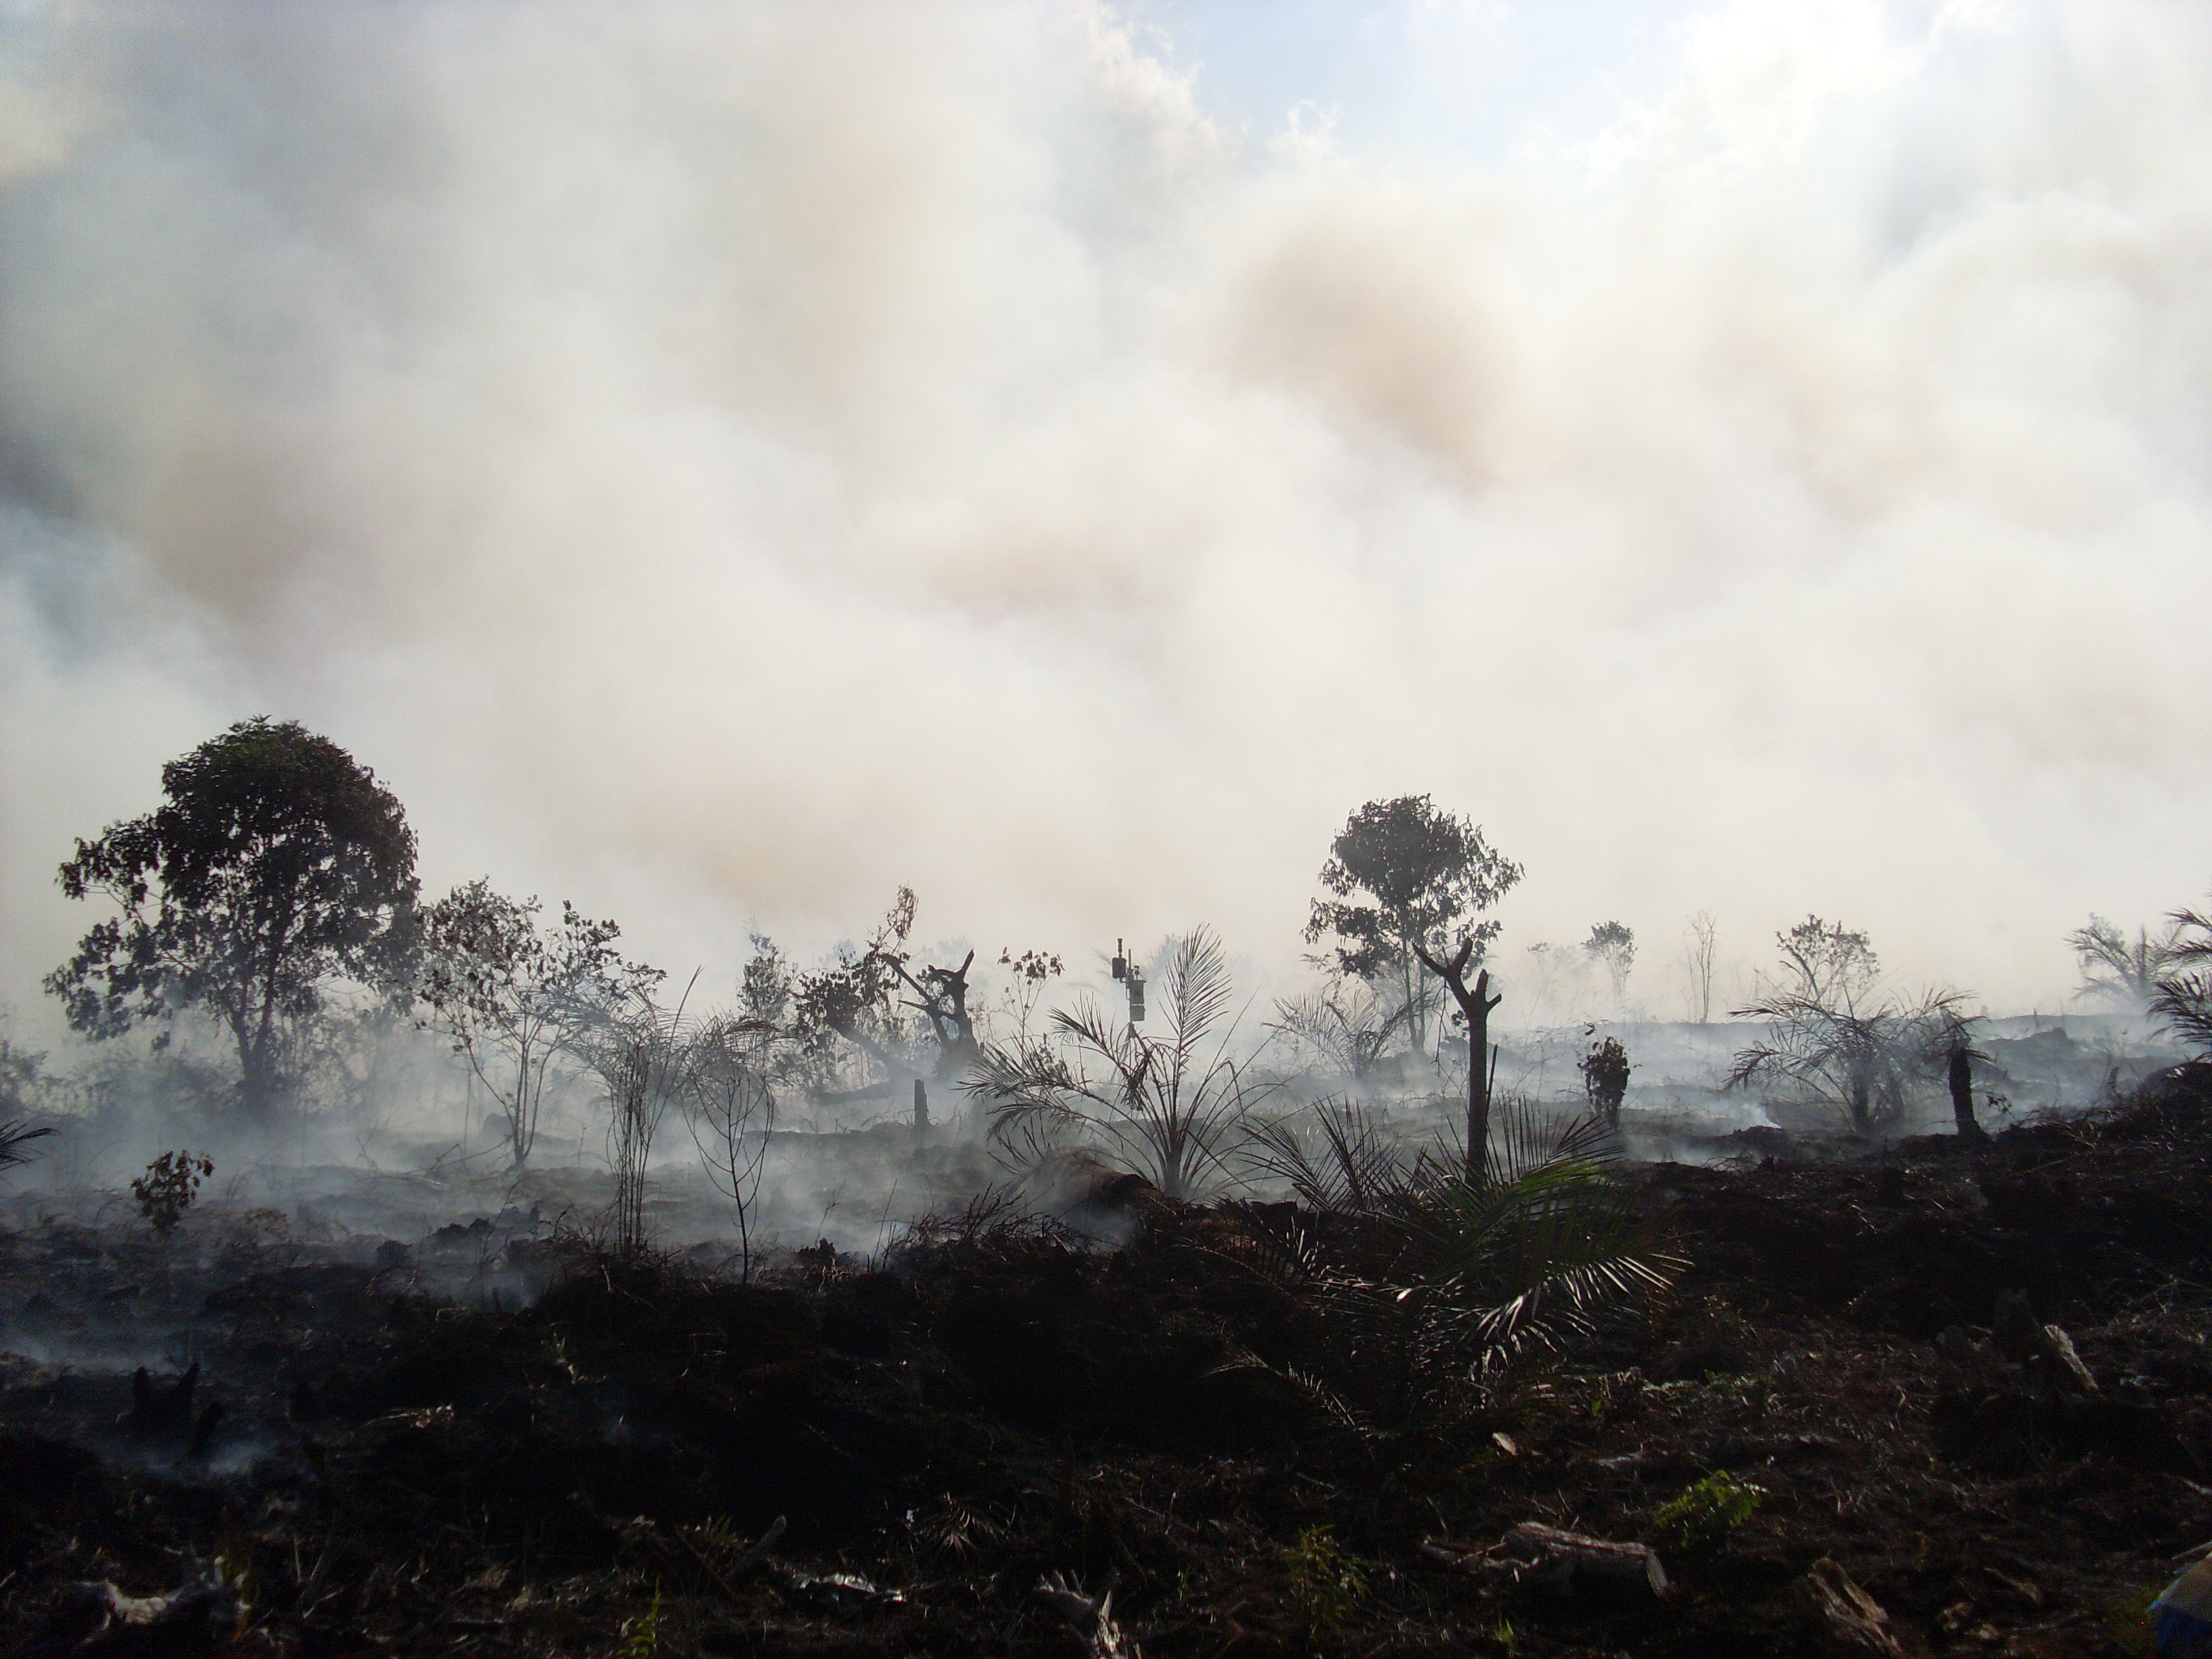
<svg viewBox="0 0 2212 1659">
<path fill-rule="evenodd" d="M 1164 1037 L 1084 995 L 1053 1011 L 1044 1040 L 987 1044 L 962 1088 L 989 1108 L 991 1139 L 1018 1161 L 1091 1141 L 1170 1199 L 1214 1181 L 1265 1091 L 1250 1091 L 1228 1053 L 1234 987 L 1212 929 L 1172 947 L 1161 987 Z"/>
</svg>

